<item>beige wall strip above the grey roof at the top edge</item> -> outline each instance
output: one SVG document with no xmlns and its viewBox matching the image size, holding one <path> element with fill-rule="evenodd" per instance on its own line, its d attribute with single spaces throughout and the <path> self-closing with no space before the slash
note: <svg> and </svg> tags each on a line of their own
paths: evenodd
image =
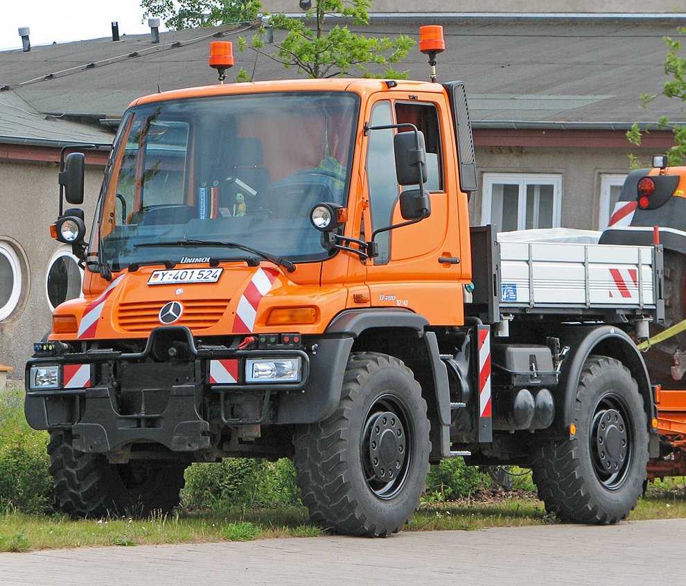
<svg viewBox="0 0 686 586">
<path fill-rule="evenodd" d="M 269 12 L 301 12 L 298 0 L 262 0 L 264 10 Z M 606 13 L 673 13 L 683 12 L 683 6 L 674 0 L 373 0 L 369 12 L 572 12 L 589 14 Z"/>
</svg>

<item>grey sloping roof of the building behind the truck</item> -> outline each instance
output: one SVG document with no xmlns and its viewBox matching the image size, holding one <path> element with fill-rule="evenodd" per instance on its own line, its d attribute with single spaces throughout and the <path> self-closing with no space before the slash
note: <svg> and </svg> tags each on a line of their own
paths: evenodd
<svg viewBox="0 0 686 586">
<path fill-rule="evenodd" d="M 421 24 L 429 23 L 417 15 L 375 18 L 368 26 L 350 28 L 417 39 Z M 686 21 L 446 17 L 441 24 L 446 51 L 438 57 L 439 80 L 464 80 L 476 127 L 622 130 L 664 115 L 684 118 L 679 100 L 660 98 L 642 108 L 640 95 L 660 91 L 667 53 L 662 37 L 683 39 L 677 27 Z M 118 118 L 139 96 L 214 83 L 216 73 L 207 65 L 209 43 L 217 36 L 236 42 L 253 34 L 245 26 L 222 26 L 161 33 L 157 45 L 149 35 L 135 35 L 118 42 L 105 38 L 2 52 L 0 136 L 28 132 L 22 129 L 30 120 L 36 125 L 35 112 L 67 114 L 72 120 Z M 281 34 L 276 31 L 277 41 Z M 241 66 L 256 80 L 298 77 L 294 69 L 235 47 L 236 67 L 228 72 L 229 80 Z M 407 69 L 411 79 L 427 79 L 430 73 L 417 48 L 396 67 Z M 2 103 L 33 114 L 12 123 Z M 64 126 L 62 132 L 73 130 Z"/>
</svg>

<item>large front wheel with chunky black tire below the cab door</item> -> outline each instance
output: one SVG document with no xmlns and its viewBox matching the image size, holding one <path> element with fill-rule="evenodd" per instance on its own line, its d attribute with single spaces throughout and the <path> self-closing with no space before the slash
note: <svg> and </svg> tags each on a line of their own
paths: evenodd
<svg viewBox="0 0 686 586">
<path fill-rule="evenodd" d="M 324 529 L 385 537 L 419 507 L 431 450 L 427 407 L 395 357 L 351 355 L 335 413 L 300 429 L 294 445 L 303 503 Z"/>
</svg>

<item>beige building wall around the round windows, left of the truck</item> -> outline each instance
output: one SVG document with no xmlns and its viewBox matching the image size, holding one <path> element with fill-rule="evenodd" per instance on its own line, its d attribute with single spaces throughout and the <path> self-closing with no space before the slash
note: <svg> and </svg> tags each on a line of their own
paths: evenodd
<svg viewBox="0 0 686 586">
<path fill-rule="evenodd" d="M 86 170 L 86 226 L 91 226 L 103 169 Z M 58 216 L 58 166 L 55 163 L 0 161 L 0 241 L 9 242 L 19 256 L 22 291 L 19 305 L 0 321 L 0 364 L 14 366 L 12 378 L 23 378 L 24 362 L 33 342 L 50 329 L 46 299 L 48 263 L 60 244 L 49 236 Z"/>
</svg>

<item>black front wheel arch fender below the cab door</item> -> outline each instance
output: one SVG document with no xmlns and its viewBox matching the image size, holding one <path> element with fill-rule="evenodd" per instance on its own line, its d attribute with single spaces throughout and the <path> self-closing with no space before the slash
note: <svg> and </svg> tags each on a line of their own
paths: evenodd
<svg viewBox="0 0 686 586">
<path fill-rule="evenodd" d="M 430 421 L 431 461 L 450 455 L 450 390 L 437 337 L 425 317 L 403 309 L 360 309 L 339 314 L 326 333 L 353 337 L 351 352 L 381 352 L 401 359 L 421 387 Z"/>
</svg>

